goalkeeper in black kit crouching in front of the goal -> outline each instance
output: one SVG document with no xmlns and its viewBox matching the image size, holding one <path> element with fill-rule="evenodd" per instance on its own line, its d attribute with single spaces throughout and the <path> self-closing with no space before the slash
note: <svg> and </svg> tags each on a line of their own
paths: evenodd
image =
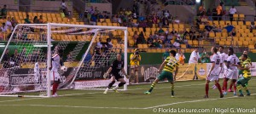
<svg viewBox="0 0 256 114">
<path fill-rule="evenodd" d="M 108 84 L 108 87 L 106 88 L 106 90 L 104 91 L 103 94 L 107 94 L 108 90 L 113 86 L 113 84 L 115 83 L 115 80 L 121 82 L 119 83 L 115 88 L 113 88 L 114 92 L 118 92 L 117 89 L 119 87 L 122 87 L 123 85 L 125 85 L 125 79 L 124 77 L 122 77 L 119 74 L 119 71 L 122 71 L 122 73 L 125 75 L 125 77 L 128 78 L 125 69 L 124 69 L 124 60 L 122 60 L 122 56 L 121 54 L 117 54 L 116 55 L 116 60 L 113 60 L 113 63 L 111 65 L 111 67 L 108 69 L 108 71 L 104 74 L 104 78 L 108 77 L 108 74 L 112 74 L 111 80 L 112 82 Z"/>
</svg>

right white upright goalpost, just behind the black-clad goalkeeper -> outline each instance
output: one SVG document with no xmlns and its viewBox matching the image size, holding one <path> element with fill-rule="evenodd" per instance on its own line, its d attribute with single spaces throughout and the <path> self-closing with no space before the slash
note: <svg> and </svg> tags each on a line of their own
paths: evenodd
<svg viewBox="0 0 256 114">
<path fill-rule="evenodd" d="M 125 51 L 124 51 L 124 53 L 125 53 L 125 72 L 126 73 L 128 73 L 128 70 L 127 70 L 127 43 L 128 43 L 128 37 L 127 37 L 127 35 L 128 35 L 128 31 L 127 31 L 127 29 L 125 29 Z M 129 83 L 129 79 L 127 79 L 126 77 L 125 77 L 125 82 L 127 82 L 127 83 Z M 124 90 L 127 90 L 127 83 L 124 85 Z"/>
</svg>

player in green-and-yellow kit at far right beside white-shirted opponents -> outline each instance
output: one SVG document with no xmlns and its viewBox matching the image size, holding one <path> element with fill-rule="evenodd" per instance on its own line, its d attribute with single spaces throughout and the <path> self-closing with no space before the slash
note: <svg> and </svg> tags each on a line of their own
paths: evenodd
<svg viewBox="0 0 256 114">
<path fill-rule="evenodd" d="M 242 54 L 241 60 L 243 62 L 241 63 L 241 66 L 238 66 L 238 67 L 242 71 L 242 77 L 239 78 L 239 80 L 236 83 L 236 86 L 237 86 L 237 90 L 240 93 L 239 96 L 243 97 L 244 95 L 241 92 L 241 86 L 247 91 L 248 96 L 251 95 L 249 92 L 249 89 L 247 88 L 247 84 L 252 76 L 250 71 L 251 61 L 248 60 L 247 54 Z"/>
</svg>

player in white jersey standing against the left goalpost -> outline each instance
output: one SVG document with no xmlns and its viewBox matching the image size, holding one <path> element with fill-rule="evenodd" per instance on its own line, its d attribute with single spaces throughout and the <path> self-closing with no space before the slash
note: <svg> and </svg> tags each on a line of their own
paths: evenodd
<svg viewBox="0 0 256 114">
<path fill-rule="evenodd" d="M 52 96 L 53 97 L 58 96 L 58 94 L 56 92 L 57 92 L 59 84 L 61 83 L 61 80 L 60 80 L 61 77 L 60 77 L 60 74 L 59 74 L 58 70 L 61 67 L 62 53 L 63 53 L 62 49 L 58 49 L 55 52 L 55 54 L 51 58 L 51 66 L 49 67 L 50 76 L 53 79 L 53 86 L 52 86 Z"/>
</svg>

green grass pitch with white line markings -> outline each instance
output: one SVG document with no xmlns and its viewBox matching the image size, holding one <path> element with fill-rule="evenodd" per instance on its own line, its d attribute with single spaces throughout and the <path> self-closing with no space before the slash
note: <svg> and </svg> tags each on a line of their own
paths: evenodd
<svg viewBox="0 0 256 114">
<path fill-rule="evenodd" d="M 220 81 L 222 83 L 222 80 Z M 211 85 L 212 86 L 212 83 Z M 0 97 L 1 114 L 150 114 L 150 113 L 246 113 L 237 112 L 256 107 L 256 80 L 249 82 L 251 96 L 236 97 L 228 93 L 219 98 L 218 89 L 210 88 L 204 99 L 205 81 L 175 83 L 175 98 L 170 83 L 158 83 L 152 94 L 143 94 L 150 84 L 128 86 L 119 93 L 93 90 L 61 90 L 57 98 Z M 244 91 L 243 91 L 244 92 Z M 154 112 L 156 111 L 156 112 Z M 247 111 L 248 113 L 249 111 Z M 199 113 L 199 112 L 197 112 Z M 256 113 L 256 112 L 252 112 Z"/>
</svg>

